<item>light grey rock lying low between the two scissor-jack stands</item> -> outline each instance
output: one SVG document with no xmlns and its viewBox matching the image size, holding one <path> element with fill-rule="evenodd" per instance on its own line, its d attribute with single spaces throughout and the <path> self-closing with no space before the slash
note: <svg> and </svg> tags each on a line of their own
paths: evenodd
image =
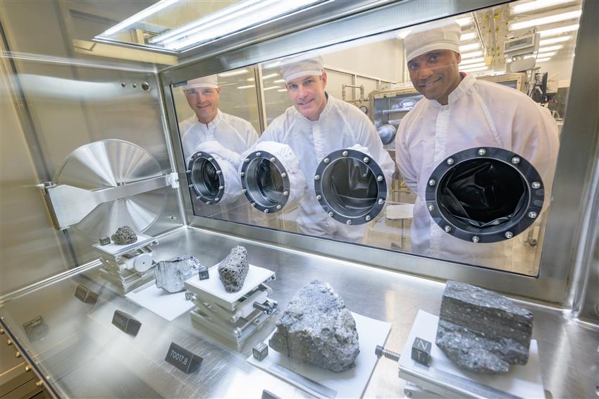
<svg viewBox="0 0 599 399">
<path fill-rule="evenodd" d="M 202 264 L 199 263 L 199 260 L 190 255 L 158 262 L 154 269 L 156 287 L 162 288 L 168 293 L 183 291 L 185 290 L 183 282 L 195 276 L 200 266 Z"/>
</svg>

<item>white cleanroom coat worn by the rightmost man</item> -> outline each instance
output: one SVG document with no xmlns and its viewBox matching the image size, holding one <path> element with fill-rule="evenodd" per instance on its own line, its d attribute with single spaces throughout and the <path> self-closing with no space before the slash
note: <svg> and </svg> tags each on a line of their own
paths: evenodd
<svg viewBox="0 0 599 399">
<path fill-rule="evenodd" d="M 433 170 L 447 156 L 472 147 L 500 147 L 524 156 L 543 178 L 545 206 L 555 171 L 557 125 L 545 109 L 510 87 L 465 75 L 447 105 L 421 99 L 403 118 L 395 137 L 400 173 L 416 193 L 412 250 L 456 262 L 510 269 L 526 232 L 500 243 L 475 244 L 441 230 L 425 203 Z"/>
</svg>

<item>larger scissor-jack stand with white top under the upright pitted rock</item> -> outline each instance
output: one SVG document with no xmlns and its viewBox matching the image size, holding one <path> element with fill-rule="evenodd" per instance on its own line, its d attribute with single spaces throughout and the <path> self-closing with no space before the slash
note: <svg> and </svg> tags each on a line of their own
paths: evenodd
<svg viewBox="0 0 599 399">
<path fill-rule="evenodd" d="M 273 290 L 265 284 L 276 279 L 275 272 L 250 264 L 237 293 L 225 290 L 218 276 L 218 264 L 209 269 L 209 275 L 207 280 L 194 276 L 185 281 L 185 288 L 194 293 L 192 321 L 235 343 L 239 349 L 276 312 L 277 302 L 268 297 Z"/>
</svg>

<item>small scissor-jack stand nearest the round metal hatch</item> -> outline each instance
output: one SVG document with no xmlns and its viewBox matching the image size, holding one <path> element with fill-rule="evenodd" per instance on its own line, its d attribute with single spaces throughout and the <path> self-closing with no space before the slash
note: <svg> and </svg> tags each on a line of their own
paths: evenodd
<svg viewBox="0 0 599 399">
<path fill-rule="evenodd" d="M 110 243 L 93 247 L 101 254 L 101 275 L 111 281 L 119 293 L 125 294 L 154 279 L 151 248 L 154 245 L 158 245 L 154 237 L 138 234 L 137 241 L 129 245 Z"/>
</svg>

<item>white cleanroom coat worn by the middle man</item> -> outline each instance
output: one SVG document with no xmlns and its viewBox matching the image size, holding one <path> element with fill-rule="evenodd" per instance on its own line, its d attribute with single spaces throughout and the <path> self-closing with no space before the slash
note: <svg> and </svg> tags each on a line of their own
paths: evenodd
<svg viewBox="0 0 599 399">
<path fill-rule="evenodd" d="M 275 118 L 259 142 L 274 141 L 289 145 L 306 177 L 304 195 L 297 214 L 293 214 L 300 233 L 361 242 L 366 225 L 347 226 L 329 218 L 314 193 L 314 175 L 319 163 L 333 151 L 362 145 L 381 166 L 388 185 L 395 164 L 376 134 L 374 125 L 359 109 L 327 94 L 328 100 L 318 121 L 309 121 L 294 107 Z"/>
</svg>

